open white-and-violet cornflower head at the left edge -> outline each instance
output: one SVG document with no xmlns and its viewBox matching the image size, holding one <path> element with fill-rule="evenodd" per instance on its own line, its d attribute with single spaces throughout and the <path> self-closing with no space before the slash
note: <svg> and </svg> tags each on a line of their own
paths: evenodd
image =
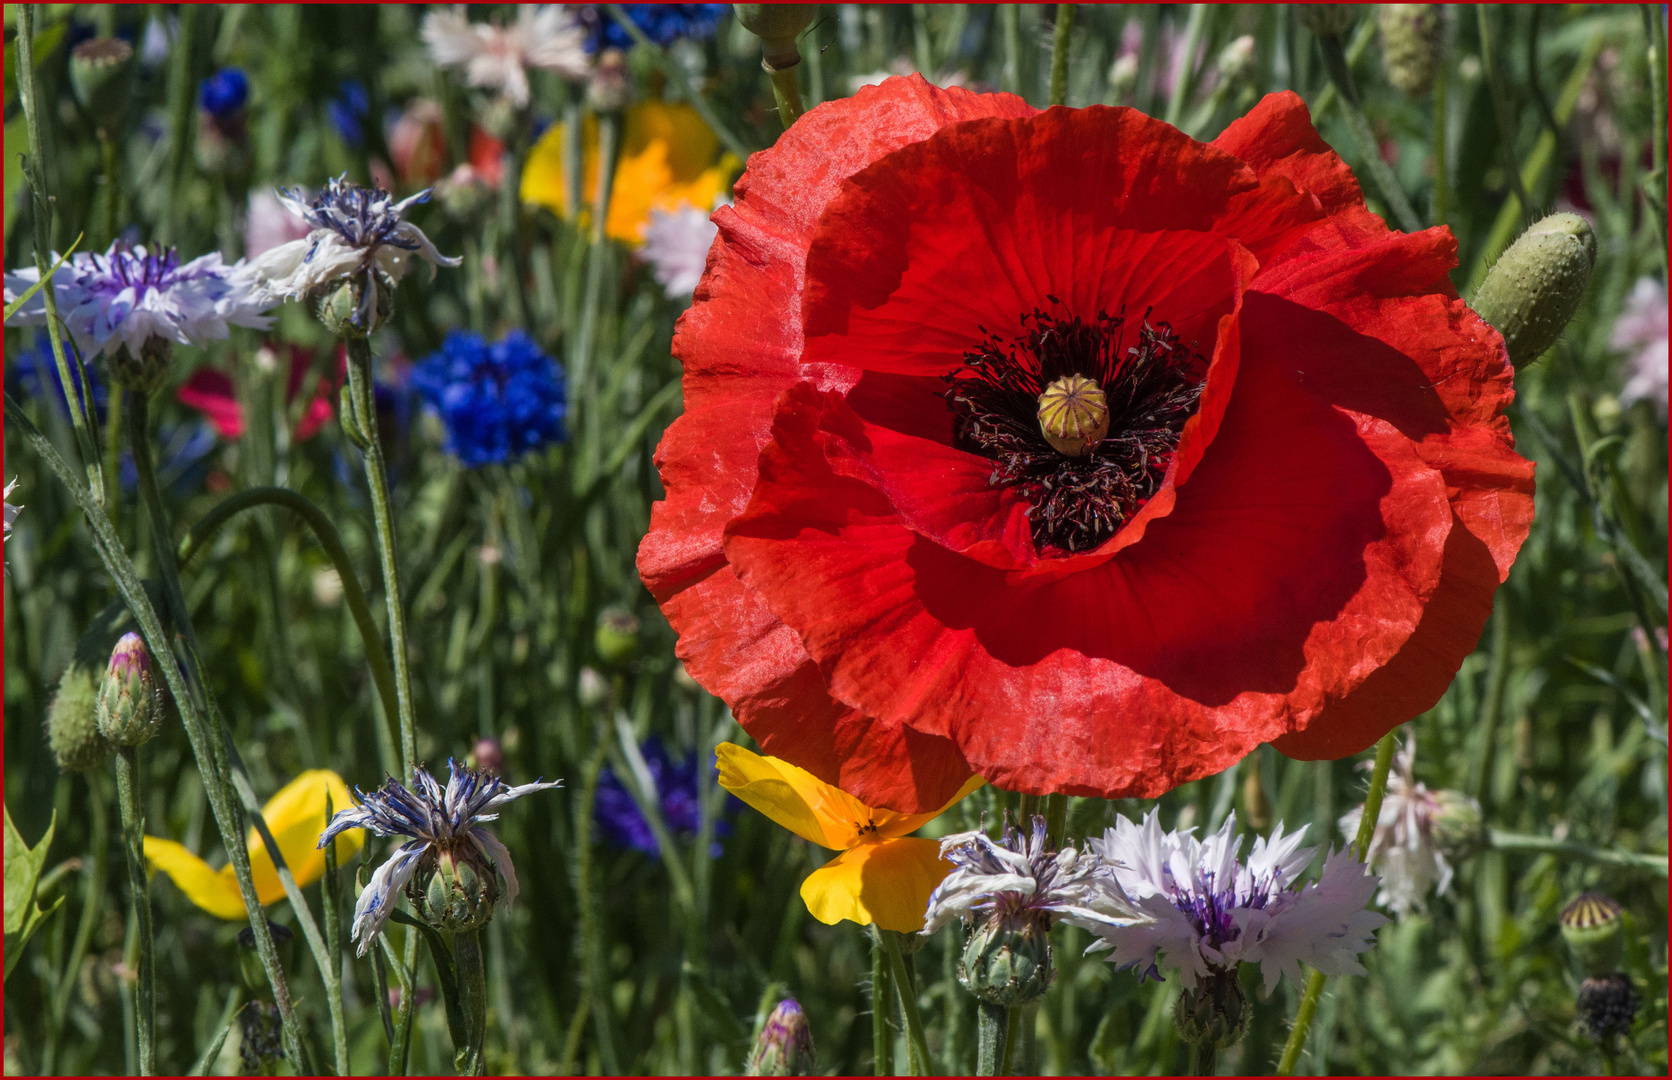
<svg viewBox="0 0 1672 1080">
<path fill-rule="evenodd" d="M 54 254 L 57 261 L 57 254 Z M 226 266 L 221 252 L 181 264 L 172 247 L 147 251 L 117 241 L 104 254 L 82 252 L 52 276 L 59 316 L 85 359 L 127 344 L 139 353 L 149 338 L 204 344 L 226 338 L 227 326 L 266 329 L 273 301 L 249 288 L 244 264 Z M 5 303 L 40 281 L 28 266 L 5 276 Z M 7 319 L 8 326 L 43 326 L 45 291 L 35 293 Z"/>
</svg>

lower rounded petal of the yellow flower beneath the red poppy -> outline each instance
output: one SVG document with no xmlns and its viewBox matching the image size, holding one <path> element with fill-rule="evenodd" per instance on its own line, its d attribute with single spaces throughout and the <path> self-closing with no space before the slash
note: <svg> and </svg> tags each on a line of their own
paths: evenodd
<svg viewBox="0 0 1672 1080">
<path fill-rule="evenodd" d="M 848 920 L 883 930 L 923 930 L 930 893 L 951 873 L 940 843 L 920 836 L 859 844 L 801 883 L 801 899 L 821 923 Z"/>
</svg>

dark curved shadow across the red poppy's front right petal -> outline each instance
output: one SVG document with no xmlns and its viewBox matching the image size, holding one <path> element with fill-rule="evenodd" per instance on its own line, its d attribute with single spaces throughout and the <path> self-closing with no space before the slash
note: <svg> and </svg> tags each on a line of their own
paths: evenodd
<svg viewBox="0 0 1672 1080">
<path fill-rule="evenodd" d="M 1316 318 L 1329 326 L 1286 321 L 1271 348 L 1244 338 L 1219 436 L 1142 542 L 1102 567 L 1030 583 L 918 540 L 906 558 L 926 610 L 1018 669 L 1070 650 L 1206 706 L 1294 690 L 1314 627 L 1338 619 L 1366 585 L 1383 585 L 1369 580 L 1366 548 L 1386 537 L 1381 502 L 1396 481 L 1334 406 L 1393 401 L 1373 415 L 1389 411 L 1391 423 L 1404 421 L 1396 426 L 1445 416 L 1436 398 L 1428 410 L 1428 398 L 1409 393 L 1409 373 L 1388 346 Z M 1314 378 L 1331 369 L 1331 354 L 1343 366 L 1364 363 L 1359 378 Z M 1354 659 L 1326 664 L 1339 670 Z"/>
</svg>

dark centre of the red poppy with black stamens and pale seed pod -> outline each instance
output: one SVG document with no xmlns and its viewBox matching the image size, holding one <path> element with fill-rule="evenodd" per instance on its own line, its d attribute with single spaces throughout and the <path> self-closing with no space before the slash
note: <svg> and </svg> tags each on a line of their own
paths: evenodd
<svg viewBox="0 0 1672 1080">
<path fill-rule="evenodd" d="M 1149 502 L 1202 398 L 1206 359 L 1149 316 L 1134 331 L 1107 311 L 1035 309 L 1015 338 L 983 326 L 945 376 L 956 445 L 1020 488 L 1047 555 L 1097 547 Z"/>
</svg>

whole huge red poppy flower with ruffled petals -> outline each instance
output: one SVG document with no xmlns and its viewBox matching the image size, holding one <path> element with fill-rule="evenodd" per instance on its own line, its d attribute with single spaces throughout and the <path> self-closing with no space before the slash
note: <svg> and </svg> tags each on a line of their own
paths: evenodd
<svg viewBox="0 0 1672 1080">
<path fill-rule="evenodd" d="M 1292 94 L 1200 144 L 893 79 L 756 154 L 640 573 L 873 806 L 1152 797 L 1430 707 L 1532 518 L 1501 338 Z"/>
</svg>

